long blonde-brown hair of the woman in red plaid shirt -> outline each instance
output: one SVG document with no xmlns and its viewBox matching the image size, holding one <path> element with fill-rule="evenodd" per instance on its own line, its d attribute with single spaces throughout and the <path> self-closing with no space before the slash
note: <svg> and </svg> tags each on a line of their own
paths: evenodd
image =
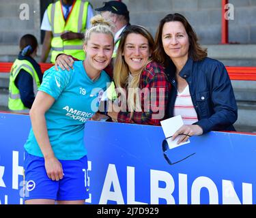
<svg viewBox="0 0 256 218">
<path fill-rule="evenodd" d="M 129 78 L 129 67 L 124 60 L 124 57 L 122 53 L 124 52 L 124 44 L 126 42 L 126 37 L 130 33 L 137 33 L 140 35 L 143 35 L 148 41 L 149 49 L 152 51 L 154 48 L 154 38 L 150 34 L 147 29 L 144 27 L 141 27 L 139 25 L 130 25 L 127 27 L 127 29 L 122 33 L 121 40 L 119 42 L 119 46 L 117 49 L 117 57 L 115 59 L 115 65 L 113 70 L 113 78 L 115 81 L 115 84 L 117 88 L 123 88 L 128 90 L 128 98 L 127 98 L 127 105 L 128 109 L 130 111 L 130 119 L 132 119 L 133 112 L 136 110 L 141 110 L 141 97 L 139 96 L 139 82 L 141 79 L 141 73 L 145 69 L 148 63 L 152 61 L 152 59 L 149 58 L 149 60 L 143 65 L 143 67 L 135 74 L 132 75 L 132 80 L 130 84 L 128 84 L 128 78 Z M 120 93 L 123 95 L 122 97 L 126 96 L 126 91 L 123 89 L 120 89 Z"/>
</svg>

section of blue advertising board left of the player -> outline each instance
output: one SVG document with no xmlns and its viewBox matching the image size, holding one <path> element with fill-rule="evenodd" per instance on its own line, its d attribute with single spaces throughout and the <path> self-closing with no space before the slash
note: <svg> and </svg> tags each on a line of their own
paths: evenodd
<svg viewBox="0 0 256 218">
<path fill-rule="evenodd" d="M 29 116 L 0 113 L 0 204 L 23 203 L 23 145 Z"/>
</svg>

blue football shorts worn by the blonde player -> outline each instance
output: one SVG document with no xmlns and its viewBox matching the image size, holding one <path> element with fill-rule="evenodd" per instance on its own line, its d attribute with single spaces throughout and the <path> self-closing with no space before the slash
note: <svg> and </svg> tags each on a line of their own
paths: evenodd
<svg viewBox="0 0 256 218">
<path fill-rule="evenodd" d="M 24 199 L 85 200 L 89 198 L 88 163 L 85 155 L 78 160 L 59 160 L 63 178 L 48 178 L 44 158 L 25 151 Z"/>
</svg>

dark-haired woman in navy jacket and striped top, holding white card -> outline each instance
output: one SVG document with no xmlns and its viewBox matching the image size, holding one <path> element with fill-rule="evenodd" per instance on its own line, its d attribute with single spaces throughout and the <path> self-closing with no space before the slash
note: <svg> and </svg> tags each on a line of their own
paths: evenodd
<svg viewBox="0 0 256 218">
<path fill-rule="evenodd" d="M 238 119 L 238 108 L 227 70 L 220 61 L 207 57 L 184 16 L 168 14 L 160 20 L 154 55 L 165 65 L 173 85 L 169 117 L 181 114 L 184 120 L 190 119 L 175 132 L 173 140 L 180 134 L 178 143 L 211 130 L 236 131 L 233 123 Z"/>
</svg>

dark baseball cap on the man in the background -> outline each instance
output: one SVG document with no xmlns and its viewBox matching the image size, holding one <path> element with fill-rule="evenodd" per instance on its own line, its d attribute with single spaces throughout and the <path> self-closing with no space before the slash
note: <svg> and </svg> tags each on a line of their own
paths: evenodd
<svg viewBox="0 0 256 218">
<path fill-rule="evenodd" d="M 98 12 L 112 12 L 113 14 L 121 14 L 127 16 L 129 14 L 126 4 L 122 1 L 106 1 L 103 7 L 95 9 Z"/>
</svg>

